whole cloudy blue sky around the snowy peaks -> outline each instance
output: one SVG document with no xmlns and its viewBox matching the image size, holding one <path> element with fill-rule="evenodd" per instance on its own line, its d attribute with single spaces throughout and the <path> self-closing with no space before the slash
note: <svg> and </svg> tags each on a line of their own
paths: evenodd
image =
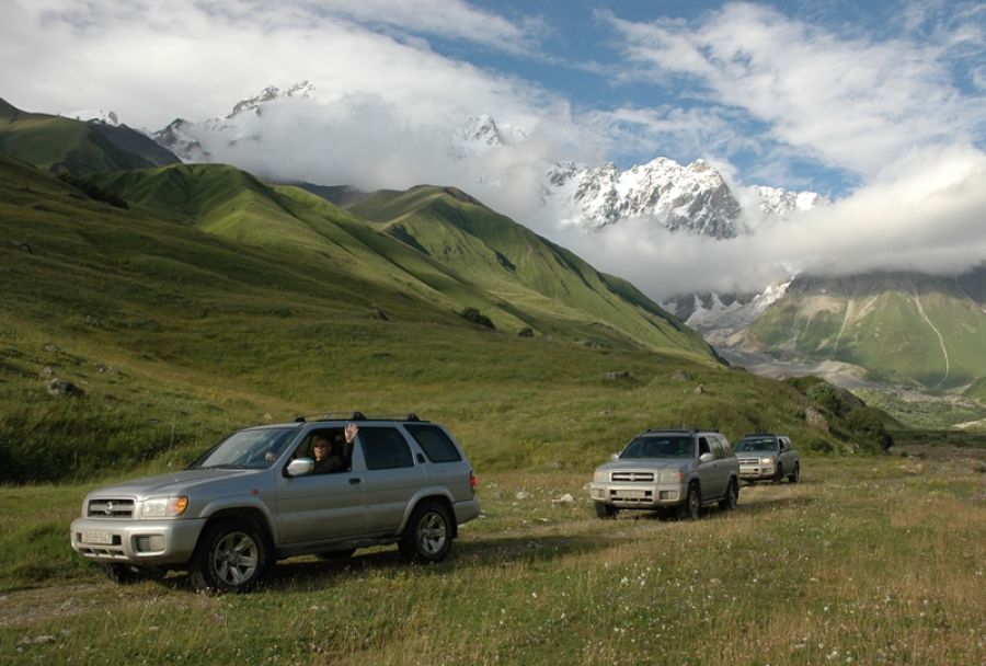
<svg viewBox="0 0 986 666">
<path fill-rule="evenodd" d="M 979 1 L 3 0 L 3 10 L 0 96 L 20 108 L 112 110 L 153 130 L 309 80 L 318 97 L 270 114 L 263 150 L 243 143 L 228 161 L 366 190 L 458 185 L 654 296 L 670 289 L 667 274 L 726 289 L 756 282 L 749 265 L 956 273 L 986 260 Z M 482 165 L 485 184 L 435 149 L 436 133 L 473 114 L 529 138 Z M 810 190 L 834 205 L 713 245 L 632 227 L 586 239 L 538 219 L 546 160 L 626 169 L 657 157 L 707 159 L 733 186 Z M 696 257 L 720 269 L 696 271 Z"/>
</svg>

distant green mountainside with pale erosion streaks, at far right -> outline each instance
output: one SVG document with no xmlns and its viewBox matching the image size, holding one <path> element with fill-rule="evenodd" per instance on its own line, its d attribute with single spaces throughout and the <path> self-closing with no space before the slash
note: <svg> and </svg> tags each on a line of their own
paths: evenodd
<svg viewBox="0 0 986 666">
<path fill-rule="evenodd" d="M 951 280 L 875 290 L 842 282 L 824 295 L 789 294 L 749 333 L 768 348 L 852 363 L 899 383 L 954 390 L 986 376 L 986 317 Z"/>
</svg>

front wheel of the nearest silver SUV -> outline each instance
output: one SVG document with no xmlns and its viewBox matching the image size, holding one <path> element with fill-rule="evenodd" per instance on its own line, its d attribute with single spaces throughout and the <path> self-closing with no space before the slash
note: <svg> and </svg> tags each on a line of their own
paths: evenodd
<svg viewBox="0 0 986 666">
<path fill-rule="evenodd" d="M 264 530 L 249 518 L 232 518 L 206 526 L 188 570 L 199 590 L 244 593 L 264 577 L 271 547 Z"/>
</svg>

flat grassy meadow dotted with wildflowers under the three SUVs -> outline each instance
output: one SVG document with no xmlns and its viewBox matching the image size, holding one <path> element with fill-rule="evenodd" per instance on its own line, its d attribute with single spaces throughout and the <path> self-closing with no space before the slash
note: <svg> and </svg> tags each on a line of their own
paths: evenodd
<svg viewBox="0 0 986 666">
<path fill-rule="evenodd" d="M 0 491 L 19 535 L 3 664 L 979 664 L 986 474 L 963 458 L 812 457 L 697 523 L 595 518 L 588 475 L 490 472 L 449 559 L 298 558 L 244 596 L 116 587 L 67 547 L 83 486 Z M 574 502 L 561 500 L 571 494 Z M 44 527 L 60 527 L 57 535 Z M 13 543 L 3 544 L 11 553 Z M 28 559 L 58 560 L 25 585 Z"/>
</svg>

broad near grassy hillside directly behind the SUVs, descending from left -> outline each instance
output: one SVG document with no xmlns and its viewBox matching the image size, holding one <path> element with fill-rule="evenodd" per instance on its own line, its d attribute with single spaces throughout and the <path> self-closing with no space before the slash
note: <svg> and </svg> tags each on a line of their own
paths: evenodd
<svg viewBox="0 0 986 666">
<path fill-rule="evenodd" d="M 789 386 L 630 344 L 477 329 L 331 256 L 253 249 L 0 165 L 8 479 L 160 469 L 265 414 L 330 409 L 446 422 L 481 470 L 587 470 L 661 425 L 730 437 L 780 428 L 837 445 L 804 423 L 806 399 Z M 679 370 L 688 377 L 673 379 Z M 47 395 L 47 374 L 85 398 Z"/>
</svg>

